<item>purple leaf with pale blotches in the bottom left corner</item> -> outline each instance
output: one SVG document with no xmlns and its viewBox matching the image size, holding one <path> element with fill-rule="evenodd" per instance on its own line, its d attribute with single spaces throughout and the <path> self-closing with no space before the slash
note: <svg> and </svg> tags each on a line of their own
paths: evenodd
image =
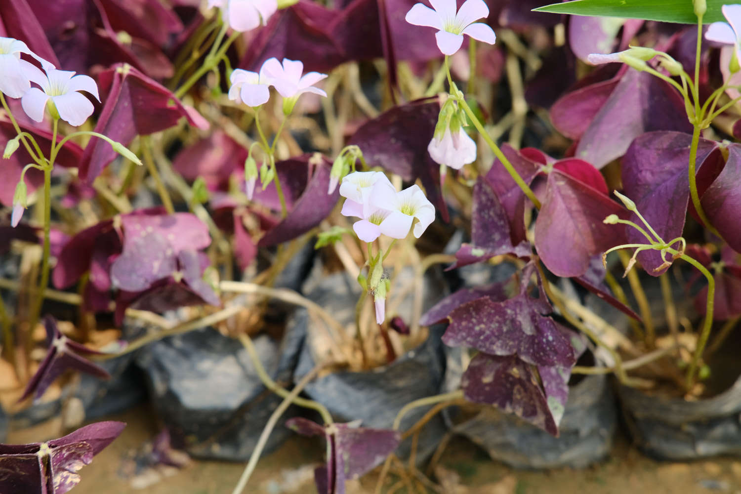
<svg viewBox="0 0 741 494">
<path fill-rule="evenodd" d="M 77 473 L 122 433 L 126 424 L 90 424 L 43 443 L 0 444 L 0 492 L 64 494 L 79 484 Z"/>
</svg>

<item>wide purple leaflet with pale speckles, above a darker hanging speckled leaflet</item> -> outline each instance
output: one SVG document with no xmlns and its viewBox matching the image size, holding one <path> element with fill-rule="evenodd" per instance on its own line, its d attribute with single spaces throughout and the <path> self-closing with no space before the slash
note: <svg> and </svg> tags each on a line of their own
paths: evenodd
<svg viewBox="0 0 741 494">
<path fill-rule="evenodd" d="M 571 342 L 553 319 L 519 295 L 504 302 L 478 298 L 453 310 L 442 341 L 451 347 L 465 345 L 496 356 L 518 355 L 535 365 L 574 365 Z"/>
</svg>

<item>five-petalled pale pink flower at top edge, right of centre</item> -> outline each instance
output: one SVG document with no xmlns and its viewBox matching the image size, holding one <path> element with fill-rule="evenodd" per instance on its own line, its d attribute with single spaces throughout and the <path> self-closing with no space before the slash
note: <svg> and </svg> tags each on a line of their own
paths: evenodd
<svg viewBox="0 0 741 494">
<path fill-rule="evenodd" d="M 484 43 L 494 44 L 494 30 L 483 22 L 474 22 L 489 16 L 484 0 L 466 0 L 456 13 L 456 0 L 430 0 L 433 8 L 425 4 L 414 4 L 406 21 L 416 26 L 437 29 L 435 39 L 443 55 L 453 55 L 463 44 L 463 35 Z"/>
</svg>

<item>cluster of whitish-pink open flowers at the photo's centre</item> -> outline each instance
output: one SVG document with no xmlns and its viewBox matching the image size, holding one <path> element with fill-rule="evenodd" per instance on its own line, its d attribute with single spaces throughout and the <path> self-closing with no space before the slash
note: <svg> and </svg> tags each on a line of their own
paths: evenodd
<svg viewBox="0 0 741 494">
<path fill-rule="evenodd" d="M 339 194 L 347 198 L 342 214 L 360 218 L 353 230 L 365 242 L 372 242 L 381 234 L 405 238 L 414 218 L 418 220 L 414 236 L 419 238 L 435 219 L 435 208 L 419 185 L 396 192 L 382 172 L 350 173 L 342 178 Z"/>
</svg>

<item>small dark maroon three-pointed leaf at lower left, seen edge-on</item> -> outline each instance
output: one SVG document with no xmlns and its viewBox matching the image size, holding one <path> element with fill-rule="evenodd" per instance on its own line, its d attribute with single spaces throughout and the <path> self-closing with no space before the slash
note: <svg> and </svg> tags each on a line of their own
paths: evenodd
<svg viewBox="0 0 741 494">
<path fill-rule="evenodd" d="M 98 378 L 108 379 L 110 374 L 102 367 L 79 356 L 102 355 L 102 353 L 91 350 L 83 345 L 70 340 L 64 336 L 56 325 L 56 320 L 51 316 L 44 317 L 44 327 L 47 332 L 48 350 L 46 358 L 41 362 L 39 370 L 28 381 L 26 389 L 19 401 L 34 395 L 34 399 L 41 398 L 47 387 L 53 383 L 67 369 L 79 370 L 82 373 L 95 375 Z"/>
</svg>

